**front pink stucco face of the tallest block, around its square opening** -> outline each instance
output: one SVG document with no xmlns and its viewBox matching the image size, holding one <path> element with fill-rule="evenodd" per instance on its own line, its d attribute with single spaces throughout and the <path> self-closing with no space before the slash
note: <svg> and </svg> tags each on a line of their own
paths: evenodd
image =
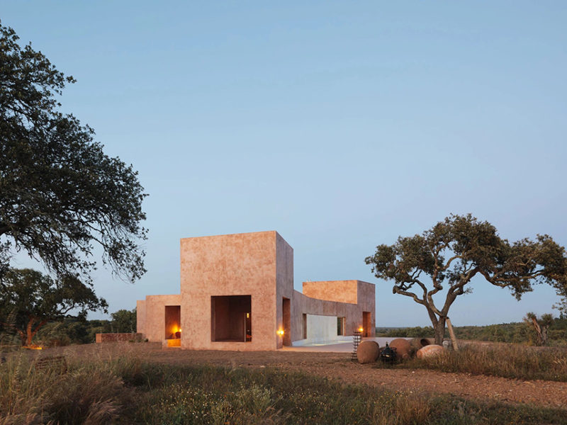
<svg viewBox="0 0 567 425">
<path fill-rule="evenodd" d="M 181 348 L 277 348 L 277 236 L 272 231 L 181 239 Z M 210 297 L 222 295 L 251 295 L 252 341 L 211 341 Z"/>
</svg>

